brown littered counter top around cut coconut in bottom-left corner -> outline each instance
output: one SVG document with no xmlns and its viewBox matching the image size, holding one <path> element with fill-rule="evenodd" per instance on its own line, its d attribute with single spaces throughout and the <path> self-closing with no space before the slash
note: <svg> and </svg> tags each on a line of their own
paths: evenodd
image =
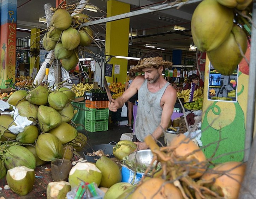
<svg viewBox="0 0 256 199">
<path fill-rule="evenodd" d="M 46 189 L 49 182 L 52 182 L 52 172 L 50 169 L 50 163 L 44 164 L 42 166 L 37 166 L 35 169 L 36 180 L 31 192 L 27 195 L 18 195 L 14 193 L 11 189 L 6 189 L 7 185 L 6 178 L 0 180 L 0 197 L 6 199 L 34 199 L 34 198 L 47 198 Z"/>
</svg>

